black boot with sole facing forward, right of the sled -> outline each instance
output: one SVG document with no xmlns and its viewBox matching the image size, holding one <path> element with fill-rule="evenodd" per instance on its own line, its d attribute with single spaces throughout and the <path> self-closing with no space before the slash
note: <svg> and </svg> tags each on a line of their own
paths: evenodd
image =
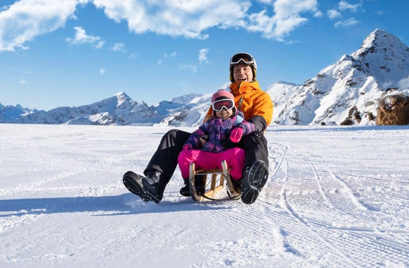
<svg viewBox="0 0 409 268">
<path fill-rule="evenodd" d="M 256 161 L 252 166 L 245 167 L 244 178 L 241 185 L 241 201 L 253 204 L 268 178 L 268 166 L 262 160 Z"/>
</svg>

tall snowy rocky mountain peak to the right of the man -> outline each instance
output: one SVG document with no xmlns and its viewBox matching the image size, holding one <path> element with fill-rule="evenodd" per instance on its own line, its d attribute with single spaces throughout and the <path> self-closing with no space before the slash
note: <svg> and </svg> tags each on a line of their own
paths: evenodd
<svg viewBox="0 0 409 268">
<path fill-rule="evenodd" d="M 351 55 L 321 70 L 302 86 L 275 83 L 268 89 L 273 121 L 280 125 L 374 125 L 378 99 L 403 90 L 409 77 L 409 48 L 376 29 Z M 405 80 L 406 79 L 406 80 Z"/>
</svg>

